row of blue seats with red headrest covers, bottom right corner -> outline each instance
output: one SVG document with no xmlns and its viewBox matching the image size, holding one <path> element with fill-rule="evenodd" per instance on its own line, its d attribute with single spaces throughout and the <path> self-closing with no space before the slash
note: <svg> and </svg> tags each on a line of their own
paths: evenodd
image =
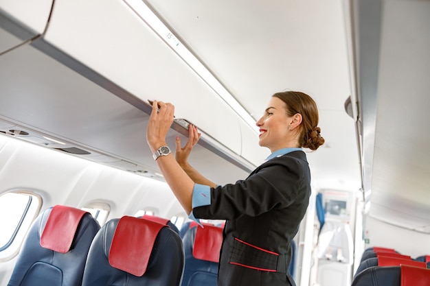
<svg viewBox="0 0 430 286">
<path fill-rule="evenodd" d="M 367 248 L 354 274 L 352 286 L 430 285 L 430 256 L 412 259 L 392 248 Z"/>
</svg>

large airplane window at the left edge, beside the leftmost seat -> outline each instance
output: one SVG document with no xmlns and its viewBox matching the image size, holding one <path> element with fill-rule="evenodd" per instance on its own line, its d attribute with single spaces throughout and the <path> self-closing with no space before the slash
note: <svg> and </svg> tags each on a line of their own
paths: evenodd
<svg viewBox="0 0 430 286">
<path fill-rule="evenodd" d="M 8 260 L 19 252 L 41 205 L 41 198 L 33 193 L 12 191 L 0 195 L 1 260 Z"/>
</svg>

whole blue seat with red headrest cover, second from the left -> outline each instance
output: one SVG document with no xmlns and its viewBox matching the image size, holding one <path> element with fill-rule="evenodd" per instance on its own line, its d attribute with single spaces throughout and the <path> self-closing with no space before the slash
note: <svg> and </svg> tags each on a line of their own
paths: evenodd
<svg viewBox="0 0 430 286">
<path fill-rule="evenodd" d="M 111 219 L 94 237 L 82 286 L 178 286 L 184 260 L 181 238 L 168 226 Z"/>
</svg>

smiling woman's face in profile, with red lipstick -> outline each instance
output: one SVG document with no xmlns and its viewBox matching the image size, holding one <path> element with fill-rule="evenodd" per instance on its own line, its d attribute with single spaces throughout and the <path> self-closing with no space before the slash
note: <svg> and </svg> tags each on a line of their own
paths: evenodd
<svg viewBox="0 0 430 286">
<path fill-rule="evenodd" d="M 268 147 L 275 152 L 284 147 L 297 147 L 297 143 L 291 142 L 291 122 L 293 117 L 286 114 L 286 104 L 278 97 L 271 97 L 270 102 L 264 110 L 264 115 L 257 121 L 260 128 L 260 141 L 262 147 Z"/>
</svg>

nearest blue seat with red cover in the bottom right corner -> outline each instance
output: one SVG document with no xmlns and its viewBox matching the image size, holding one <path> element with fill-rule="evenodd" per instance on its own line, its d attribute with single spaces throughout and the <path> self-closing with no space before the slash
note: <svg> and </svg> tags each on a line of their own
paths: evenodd
<svg viewBox="0 0 430 286">
<path fill-rule="evenodd" d="M 360 272 L 351 286 L 428 286 L 430 270 L 411 265 L 369 267 Z"/>
</svg>

